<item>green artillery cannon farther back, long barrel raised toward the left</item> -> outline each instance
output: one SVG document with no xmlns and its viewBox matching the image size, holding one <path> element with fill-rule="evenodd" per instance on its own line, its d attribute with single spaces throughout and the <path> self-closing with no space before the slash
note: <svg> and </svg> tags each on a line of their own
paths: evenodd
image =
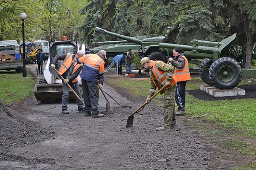
<svg viewBox="0 0 256 170">
<path fill-rule="evenodd" d="M 126 41 L 131 42 L 131 43 L 138 44 L 139 46 L 141 46 L 141 48 L 143 50 L 142 54 L 141 54 L 143 57 L 148 56 L 151 60 L 162 60 L 162 61 L 166 62 L 167 61 L 166 54 L 165 54 L 165 52 L 162 52 L 159 49 L 158 43 L 163 42 L 164 38 L 169 33 L 169 29 L 171 29 L 171 28 L 168 27 L 168 30 L 167 30 L 165 36 L 156 36 L 156 37 L 151 37 L 151 38 L 144 38 L 143 40 L 140 40 L 138 38 L 133 38 L 133 37 L 130 37 L 130 36 L 124 36 L 124 35 L 120 35 L 120 34 L 117 34 L 117 33 L 109 32 L 109 31 L 107 31 L 105 29 L 102 29 L 102 28 L 99 28 L 99 27 L 95 28 L 95 32 L 102 33 L 102 34 L 107 34 L 107 35 L 110 35 L 110 36 L 120 38 L 122 40 L 126 40 Z"/>
</svg>

